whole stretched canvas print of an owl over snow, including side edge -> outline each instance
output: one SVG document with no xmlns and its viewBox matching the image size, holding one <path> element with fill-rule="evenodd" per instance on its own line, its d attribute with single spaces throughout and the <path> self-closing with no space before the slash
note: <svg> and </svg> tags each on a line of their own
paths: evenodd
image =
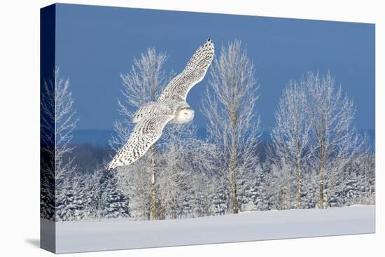
<svg viewBox="0 0 385 257">
<path fill-rule="evenodd" d="M 41 247 L 372 233 L 374 25 L 41 9 Z"/>
</svg>

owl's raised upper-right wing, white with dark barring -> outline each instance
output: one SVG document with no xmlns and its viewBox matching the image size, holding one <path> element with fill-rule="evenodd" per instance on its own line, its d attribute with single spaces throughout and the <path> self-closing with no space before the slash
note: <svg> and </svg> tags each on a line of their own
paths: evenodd
<svg viewBox="0 0 385 257">
<path fill-rule="evenodd" d="M 183 99 L 186 101 L 188 91 L 198 82 L 202 81 L 207 69 L 214 58 L 214 43 L 208 39 L 191 57 L 186 68 L 170 81 L 163 90 L 158 101 L 165 102 L 171 99 Z"/>
</svg>

